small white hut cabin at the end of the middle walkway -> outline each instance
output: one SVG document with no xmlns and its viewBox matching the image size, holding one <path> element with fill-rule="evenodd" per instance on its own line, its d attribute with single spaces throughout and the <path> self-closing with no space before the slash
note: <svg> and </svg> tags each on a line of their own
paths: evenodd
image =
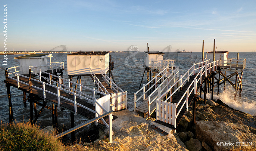
<svg viewBox="0 0 256 151">
<path fill-rule="evenodd" d="M 145 66 L 154 66 L 154 61 L 163 61 L 164 53 L 160 51 L 145 51 Z"/>
</svg>

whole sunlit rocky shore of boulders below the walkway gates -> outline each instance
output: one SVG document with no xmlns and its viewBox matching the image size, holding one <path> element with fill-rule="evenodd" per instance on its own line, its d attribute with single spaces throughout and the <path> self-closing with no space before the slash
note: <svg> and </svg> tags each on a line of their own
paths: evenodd
<svg viewBox="0 0 256 151">
<path fill-rule="evenodd" d="M 183 116 L 176 133 L 155 123 L 155 118 L 145 120 L 136 112 L 115 112 L 113 143 L 108 143 L 108 131 L 98 132 L 92 143 L 78 145 L 81 149 L 94 146 L 108 151 L 254 151 L 256 150 L 256 118 L 232 109 L 221 100 L 199 100 L 196 105 L 196 124 L 192 121 L 192 105 Z M 161 127 L 167 136 L 151 128 Z M 77 145 L 76 145 L 77 146 Z"/>
</svg>

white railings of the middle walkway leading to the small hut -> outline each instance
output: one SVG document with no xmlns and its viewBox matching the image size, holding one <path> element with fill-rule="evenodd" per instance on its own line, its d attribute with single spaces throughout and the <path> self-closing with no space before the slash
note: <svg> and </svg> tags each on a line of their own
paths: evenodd
<svg viewBox="0 0 256 151">
<path fill-rule="evenodd" d="M 172 71 L 172 72 L 169 72 L 169 71 Z M 166 85 L 164 85 L 164 87 L 162 88 L 162 90 L 160 90 L 160 92 L 162 92 L 163 90 L 164 90 L 164 88 L 166 88 L 167 87 L 167 89 L 168 89 L 168 85 L 170 85 L 170 82 L 175 82 L 175 77 L 176 76 L 178 76 L 179 77 L 179 74 L 180 74 L 180 68 L 179 67 L 177 67 L 175 70 L 173 70 L 173 69 L 170 69 L 168 66 L 166 67 L 166 68 L 164 68 L 161 72 L 159 72 L 153 79 L 151 79 L 147 84 L 145 84 L 145 85 L 143 85 L 143 87 L 142 88 L 140 88 L 139 89 L 139 91 L 137 91 L 136 93 L 134 93 L 134 110 L 136 109 L 136 102 L 138 101 L 138 100 L 140 100 L 142 97 L 143 97 L 143 100 L 145 100 L 145 95 L 146 95 L 146 93 L 148 92 L 148 91 L 150 91 L 150 89 L 151 88 L 156 88 L 157 87 L 157 83 L 158 82 L 160 82 L 161 81 L 161 84 L 160 85 L 158 85 L 158 87 L 159 86 L 161 86 L 161 85 L 163 85 L 164 84 L 164 82 L 166 82 L 167 81 L 167 84 Z M 161 76 L 159 79 L 157 79 L 157 77 L 158 76 Z M 171 77 L 171 76 L 173 76 L 173 77 Z M 145 90 L 145 87 L 147 86 L 147 85 L 149 85 L 153 80 L 155 80 L 155 84 L 153 84 L 150 88 L 148 88 L 148 90 Z M 148 106 L 148 108 L 149 108 L 149 113 L 150 113 L 150 105 L 151 105 L 151 103 L 153 102 L 153 101 L 155 101 L 155 99 L 156 99 L 156 97 L 155 98 L 153 98 L 152 100 L 150 100 L 150 97 L 151 97 L 151 95 L 153 94 L 153 93 L 155 93 L 155 91 L 157 91 L 158 90 L 158 87 L 154 90 L 154 91 L 152 91 L 152 93 L 148 96 L 148 101 L 149 101 L 149 106 Z M 159 90 L 158 90 L 159 91 Z M 142 93 L 141 93 L 142 92 Z M 142 94 L 142 95 L 140 95 L 138 98 L 137 98 L 137 94 L 138 93 L 140 93 L 140 94 Z"/>
</svg>

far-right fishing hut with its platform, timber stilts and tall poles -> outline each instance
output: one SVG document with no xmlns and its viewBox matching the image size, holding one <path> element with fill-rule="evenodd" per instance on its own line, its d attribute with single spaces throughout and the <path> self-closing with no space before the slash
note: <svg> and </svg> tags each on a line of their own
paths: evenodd
<svg viewBox="0 0 256 151">
<path fill-rule="evenodd" d="M 217 95 L 219 95 L 220 85 L 224 84 L 224 90 L 225 90 L 226 82 L 229 82 L 229 84 L 235 89 L 235 97 L 238 90 L 239 90 L 239 97 L 241 97 L 242 76 L 243 76 L 243 71 L 245 69 L 246 59 L 239 58 L 239 53 L 237 53 L 237 58 L 228 58 L 228 54 L 229 54 L 228 51 L 216 51 L 216 49 L 215 49 L 215 39 L 214 39 L 213 51 L 207 52 L 207 59 L 211 59 L 210 62 L 216 61 L 216 60 L 219 60 L 219 62 L 217 62 L 217 68 L 214 68 L 213 70 L 211 70 L 211 73 L 207 76 L 204 89 L 201 87 L 200 97 L 201 97 L 201 92 L 204 91 L 204 93 L 206 94 L 208 89 L 208 93 L 211 91 L 211 99 L 213 100 L 214 88 L 217 86 Z M 204 53 L 204 41 L 203 41 L 203 49 L 202 49 L 202 60 L 203 60 L 203 53 Z M 229 75 L 226 75 L 227 72 Z M 240 76 L 239 76 L 239 73 L 240 73 Z M 222 78 L 220 78 L 220 76 L 222 76 Z M 231 78 L 233 76 L 235 76 L 234 78 L 235 80 L 232 82 Z M 214 79 L 216 79 L 217 82 L 214 82 Z"/>
</svg>

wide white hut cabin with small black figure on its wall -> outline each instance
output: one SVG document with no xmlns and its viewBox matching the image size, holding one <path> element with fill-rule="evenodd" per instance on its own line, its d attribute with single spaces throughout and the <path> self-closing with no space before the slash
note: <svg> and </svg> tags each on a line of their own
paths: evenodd
<svg viewBox="0 0 256 151">
<path fill-rule="evenodd" d="M 83 76 L 100 74 L 101 70 L 107 73 L 109 70 L 108 51 L 80 51 L 67 54 L 68 76 Z"/>
</svg>

